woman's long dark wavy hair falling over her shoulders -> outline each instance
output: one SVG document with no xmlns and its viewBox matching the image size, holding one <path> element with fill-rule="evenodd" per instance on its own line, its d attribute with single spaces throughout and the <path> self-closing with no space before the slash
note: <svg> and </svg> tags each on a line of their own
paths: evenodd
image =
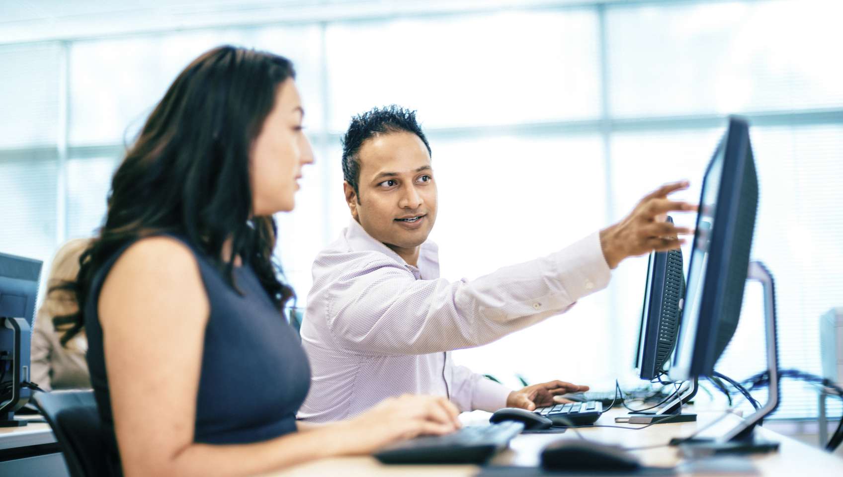
<svg viewBox="0 0 843 477">
<path fill-rule="evenodd" d="M 293 289 L 272 260 L 277 226 L 253 217 L 250 150 L 275 105 L 279 85 L 295 78 L 282 56 L 220 46 L 199 56 L 170 85 L 116 170 L 105 225 L 79 263 L 78 313 L 56 317 L 62 344 L 84 326 L 94 276 L 119 249 L 139 238 L 172 233 L 205 253 L 234 289 L 234 257 L 244 257 L 279 314 Z M 232 240 L 231 260 L 223 243 Z"/>
</svg>

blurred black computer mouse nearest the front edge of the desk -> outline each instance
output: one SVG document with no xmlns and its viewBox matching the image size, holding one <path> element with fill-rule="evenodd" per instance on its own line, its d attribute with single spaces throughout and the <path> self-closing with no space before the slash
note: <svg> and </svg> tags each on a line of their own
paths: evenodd
<svg viewBox="0 0 843 477">
<path fill-rule="evenodd" d="M 560 439 L 541 451 L 541 466 L 549 470 L 632 470 L 641 467 L 641 461 L 612 444 Z"/>
</svg>

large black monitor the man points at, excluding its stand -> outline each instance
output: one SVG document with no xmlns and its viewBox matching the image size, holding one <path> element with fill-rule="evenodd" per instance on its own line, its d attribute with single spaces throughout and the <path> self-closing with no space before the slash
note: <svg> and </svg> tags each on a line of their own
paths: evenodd
<svg viewBox="0 0 843 477">
<path fill-rule="evenodd" d="M 699 206 L 671 379 L 710 376 L 738 327 L 758 209 L 746 121 L 730 118 L 706 168 Z"/>
</svg>

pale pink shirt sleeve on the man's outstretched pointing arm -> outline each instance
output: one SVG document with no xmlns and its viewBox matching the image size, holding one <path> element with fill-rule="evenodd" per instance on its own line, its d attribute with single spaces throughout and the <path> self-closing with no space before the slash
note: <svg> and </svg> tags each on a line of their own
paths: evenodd
<svg viewBox="0 0 843 477">
<path fill-rule="evenodd" d="M 484 345 L 565 312 L 606 287 L 610 276 L 598 233 L 472 281 L 416 280 L 395 260 L 364 257 L 371 260 L 349 266 L 331 282 L 326 319 L 340 346 L 373 356 Z"/>
</svg>

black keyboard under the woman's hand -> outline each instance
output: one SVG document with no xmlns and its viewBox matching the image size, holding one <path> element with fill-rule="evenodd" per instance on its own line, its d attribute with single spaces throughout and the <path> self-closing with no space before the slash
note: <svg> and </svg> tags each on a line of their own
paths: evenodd
<svg viewBox="0 0 843 477">
<path fill-rule="evenodd" d="M 374 453 L 384 464 L 484 464 L 524 430 L 515 421 L 463 427 L 445 436 L 422 436 Z"/>
</svg>

